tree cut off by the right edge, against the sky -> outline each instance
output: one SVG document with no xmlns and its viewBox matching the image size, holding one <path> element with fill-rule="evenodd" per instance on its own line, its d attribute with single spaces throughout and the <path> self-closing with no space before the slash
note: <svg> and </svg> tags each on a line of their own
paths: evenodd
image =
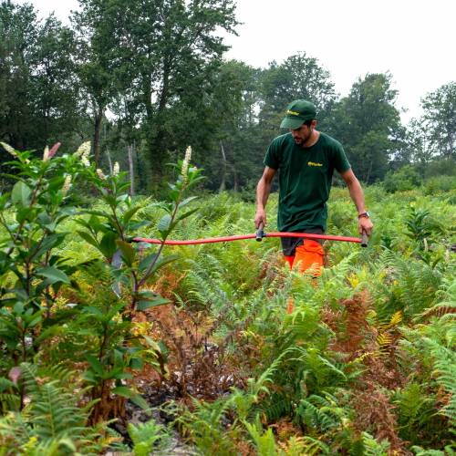
<svg viewBox="0 0 456 456">
<path fill-rule="evenodd" d="M 438 88 L 421 100 L 431 148 L 443 158 L 456 158 L 456 82 Z"/>
</svg>

